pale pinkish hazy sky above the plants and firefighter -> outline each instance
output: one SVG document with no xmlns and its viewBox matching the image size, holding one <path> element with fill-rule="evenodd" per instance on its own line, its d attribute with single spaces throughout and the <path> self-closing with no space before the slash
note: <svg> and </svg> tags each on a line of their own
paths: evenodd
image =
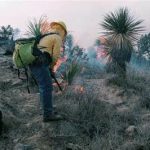
<svg viewBox="0 0 150 150">
<path fill-rule="evenodd" d="M 104 16 L 121 7 L 144 20 L 144 33 L 150 32 L 150 0 L 0 0 L 0 26 L 25 33 L 29 20 L 46 15 L 50 22 L 64 21 L 75 43 L 87 48 L 102 34 Z"/>
</svg>

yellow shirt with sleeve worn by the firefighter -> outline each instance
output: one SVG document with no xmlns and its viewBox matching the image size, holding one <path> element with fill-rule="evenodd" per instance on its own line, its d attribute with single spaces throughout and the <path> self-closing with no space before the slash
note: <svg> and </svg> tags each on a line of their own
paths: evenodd
<svg viewBox="0 0 150 150">
<path fill-rule="evenodd" d="M 48 52 L 53 59 L 51 68 L 53 68 L 60 57 L 60 49 L 62 46 L 62 39 L 58 34 L 45 36 L 39 42 L 38 47 L 44 47 L 42 51 Z"/>
</svg>

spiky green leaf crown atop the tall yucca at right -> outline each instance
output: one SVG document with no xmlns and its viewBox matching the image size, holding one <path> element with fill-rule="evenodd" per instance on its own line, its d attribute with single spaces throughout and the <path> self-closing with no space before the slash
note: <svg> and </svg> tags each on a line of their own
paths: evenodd
<svg viewBox="0 0 150 150">
<path fill-rule="evenodd" d="M 130 38 L 131 40 L 136 39 L 136 35 L 139 31 L 143 30 L 140 26 L 142 20 L 135 21 L 133 17 L 129 15 L 127 8 L 121 8 L 115 13 L 107 14 L 104 18 L 104 22 L 101 24 L 106 30 L 107 36 L 113 36 L 118 38 L 118 35 L 123 35 Z"/>
</svg>

